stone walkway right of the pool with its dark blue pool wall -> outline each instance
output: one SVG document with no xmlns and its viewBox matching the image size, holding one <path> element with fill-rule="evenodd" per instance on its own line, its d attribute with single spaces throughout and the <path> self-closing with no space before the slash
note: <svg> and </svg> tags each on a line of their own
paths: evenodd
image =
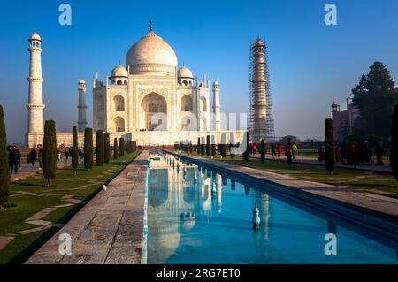
<svg viewBox="0 0 398 282">
<path fill-rule="evenodd" d="M 170 151 L 169 153 L 176 155 Z M 261 185 L 263 183 L 264 186 L 276 193 L 310 202 L 311 205 L 316 205 L 319 209 L 338 213 L 353 220 L 356 224 L 372 226 L 381 232 L 386 232 L 388 236 L 398 238 L 398 199 L 296 179 L 289 175 L 261 171 L 199 156 L 183 156 L 210 165 L 219 171 L 226 171 L 254 184 L 260 183 Z M 278 184 L 278 186 L 270 186 L 270 182 Z"/>
</svg>

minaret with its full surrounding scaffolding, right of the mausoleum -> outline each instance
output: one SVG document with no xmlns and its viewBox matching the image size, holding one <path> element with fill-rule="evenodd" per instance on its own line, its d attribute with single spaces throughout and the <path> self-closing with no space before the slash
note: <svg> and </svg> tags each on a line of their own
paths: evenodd
<svg viewBox="0 0 398 282">
<path fill-rule="evenodd" d="M 266 45 L 257 38 L 250 46 L 248 117 L 250 141 L 256 143 L 275 139 L 267 58 Z"/>
</svg>

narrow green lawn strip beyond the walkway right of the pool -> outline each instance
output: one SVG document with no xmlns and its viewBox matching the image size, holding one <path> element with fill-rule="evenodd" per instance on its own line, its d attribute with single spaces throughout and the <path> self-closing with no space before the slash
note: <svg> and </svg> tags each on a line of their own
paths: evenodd
<svg viewBox="0 0 398 282">
<path fill-rule="evenodd" d="M 202 156 L 195 153 L 192 155 Z M 219 156 L 216 156 L 215 160 L 220 160 Z M 292 164 L 289 166 L 287 163 L 272 160 L 266 160 L 264 164 L 261 164 L 259 159 L 252 158 L 249 162 L 246 162 L 242 160 L 241 156 L 235 156 L 233 159 L 230 156 L 226 156 L 222 161 L 249 166 L 262 171 L 288 174 L 298 179 L 307 179 L 339 187 L 398 197 L 398 181 L 392 175 L 385 173 L 338 168 L 333 175 L 330 175 L 323 165 Z"/>
</svg>

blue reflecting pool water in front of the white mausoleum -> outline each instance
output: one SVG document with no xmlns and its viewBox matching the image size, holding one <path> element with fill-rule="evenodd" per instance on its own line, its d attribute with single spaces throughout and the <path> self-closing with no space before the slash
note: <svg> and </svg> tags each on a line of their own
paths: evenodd
<svg viewBox="0 0 398 282">
<path fill-rule="evenodd" d="M 148 193 L 148 263 L 398 263 L 397 242 L 171 155 L 151 161 Z"/>
</svg>

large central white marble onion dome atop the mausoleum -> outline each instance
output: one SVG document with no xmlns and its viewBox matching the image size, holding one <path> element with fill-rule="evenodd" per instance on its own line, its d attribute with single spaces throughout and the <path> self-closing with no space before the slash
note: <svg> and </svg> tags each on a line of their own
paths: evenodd
<svg viewBox="0 0 398 282">
<path fill-rule="evenodd" d="M 177 56 L 169 44 L 149 31 L 128 50 L 126 65 L 130 66 L 131 73 L 175 74 Z"/>
</svg>

